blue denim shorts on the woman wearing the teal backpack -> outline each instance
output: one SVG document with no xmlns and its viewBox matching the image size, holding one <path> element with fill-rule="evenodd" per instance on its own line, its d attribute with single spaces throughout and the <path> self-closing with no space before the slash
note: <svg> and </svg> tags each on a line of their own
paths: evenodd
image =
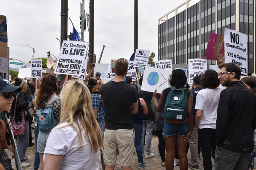
<svg viewBox="0 0 256 170">
<path fill-rule="evenodd" d="M 189 123 L 186 121 L 184 124 L 169 123 L 164 120 L 163 136 L 173 136 L 179 134 L 180 136 L 187 135 L 189 133 Z"/>
</svg>

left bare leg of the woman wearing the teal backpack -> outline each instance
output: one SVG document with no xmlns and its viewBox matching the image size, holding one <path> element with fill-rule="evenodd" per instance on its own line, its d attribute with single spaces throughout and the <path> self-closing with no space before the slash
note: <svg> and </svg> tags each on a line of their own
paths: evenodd
<svg viewBox="0 0 256 170">
<path fill-rule="evenodd" d="M 173 170 L 174 165 L 173 165 L 173 160 L 175 157 L 175 145 L 176 145 L 176 136 L 164 136 L 165 138 L 165 143 L 166 143 L 166 150 L 167 150 L 167 155 L 166 155 L 166 170 Z"/>
</svg>

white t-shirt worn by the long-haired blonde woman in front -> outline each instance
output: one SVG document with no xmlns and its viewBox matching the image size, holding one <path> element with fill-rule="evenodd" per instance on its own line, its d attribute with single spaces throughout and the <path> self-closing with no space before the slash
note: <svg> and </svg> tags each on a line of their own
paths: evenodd
<svg viewBox="0 0 256 170">
<path fill-rule="evenodd" d="M 61 163 L 60 170 L 98 170 L 99 169 L 99 152 L 90 153 L 90 145 L 83 137 L 83 148 L 78 146 L 78 135 L 70 127 L 64 127 L 67 123 L 61 123 L 56 126 L 47 139 L 44 154 L 65 155 Z"/>
</svg>

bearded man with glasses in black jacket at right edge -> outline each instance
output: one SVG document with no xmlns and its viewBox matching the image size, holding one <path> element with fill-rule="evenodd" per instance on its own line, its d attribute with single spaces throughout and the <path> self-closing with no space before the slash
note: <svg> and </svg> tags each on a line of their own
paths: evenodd
<svg viewBox="0 0 256 170">
<path fill-rule="evenodd" d="M 225 63 L 218 79 L 227 86 L 221 92 L 216 124 L 215 170 L 247 170 L 254 149 L 256 128 L 256 96 L 243 82 L 241 70 L 234 63 Z"/>
</svg>

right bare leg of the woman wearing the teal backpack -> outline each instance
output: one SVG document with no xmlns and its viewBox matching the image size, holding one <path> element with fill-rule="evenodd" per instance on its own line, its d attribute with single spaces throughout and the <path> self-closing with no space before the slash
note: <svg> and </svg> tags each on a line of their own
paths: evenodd
<svg viewBox="0 0 256 170">
<path fill-rule="evenodd" d="M 188 169 L 187 143 L 183 142 L 182 136 L 177 134 L 178 155 L 180 159 L 180 170 Z"/>
</svg>

